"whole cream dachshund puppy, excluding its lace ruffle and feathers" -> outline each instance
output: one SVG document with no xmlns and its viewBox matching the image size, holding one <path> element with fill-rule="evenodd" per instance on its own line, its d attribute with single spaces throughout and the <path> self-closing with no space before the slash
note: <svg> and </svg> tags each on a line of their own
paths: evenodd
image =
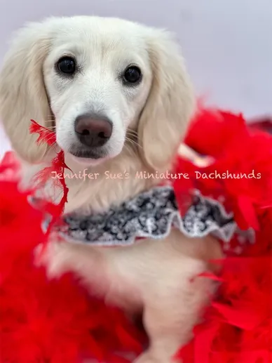
<svg viewBox="0 0 272 363">
<path fill-rule="evenodd" d="M 0 75 L 0 117 L 22 162 L 25 183 L 64 150 L 74 173 L 102 176 L 170 169 L 194 111 L 189 76 L 168 32 L 116 18 L 76 16 L 31 23 L 15 35 Z M 36 144 L 30 119 L 55 131 Z M 107 211 L 160 182 L 67 178 L 65 213 Z M 50 192 L 50 190 L 49 190 Z M 196 277 L 221 251 L 215 239 L 172 230 L 114 249 L 52 242 L 48 277 L 73 271 L 92 291 L 142 312 L 150 338 L 137 363 L 169 363 L 191 338 L 211 282 Z"/>
</svg>

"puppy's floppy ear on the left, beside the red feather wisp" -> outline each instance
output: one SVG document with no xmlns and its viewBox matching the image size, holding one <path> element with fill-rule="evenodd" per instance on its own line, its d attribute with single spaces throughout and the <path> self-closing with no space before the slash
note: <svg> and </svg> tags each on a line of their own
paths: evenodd
<svg viewBox="0 0 272 363">
<path fill-rule="evenodd" d="M 29 134 L 30 119 L 46 126 L 50 107 L 43 84 L 43 60 L 50 39 L 44 27 L 31 24 L 15 35 L 0 74 L 0 119 L 19 157 L 30 163 L 41 161 L 48 147 L 36 145 Z"/>
</svg>

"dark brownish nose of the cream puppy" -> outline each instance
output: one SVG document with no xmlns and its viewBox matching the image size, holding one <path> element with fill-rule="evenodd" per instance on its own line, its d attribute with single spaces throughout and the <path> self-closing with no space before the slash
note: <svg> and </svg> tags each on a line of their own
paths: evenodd
<svg viewBox="0 0 272 363">
<path fill-rule="evenodd" d="M 76 117 L 74 130 L 83 145 L 99 147 L 111 137 L 112 123 L 107 117 L 83 114 Z"/>
</svg>

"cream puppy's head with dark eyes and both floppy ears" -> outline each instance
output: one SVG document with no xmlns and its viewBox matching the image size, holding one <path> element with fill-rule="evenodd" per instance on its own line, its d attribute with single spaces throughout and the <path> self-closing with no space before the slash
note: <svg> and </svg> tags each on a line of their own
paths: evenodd
<svg viewBox="0 0 272 363">
<path fill-rule="evenodd" d="M 90 164 L 116 157 L 128 136 L 153 169 L 175 154 L 193 92 L 170 34 L 114 18 L 50 18 L 20 29 L 0 75 L 0 117 L 16 152 L 48 152 L 30 119 L 55 129 L 57 144 Z M 53 124 L 52 124 L 53 123 Z"/>
</svg>

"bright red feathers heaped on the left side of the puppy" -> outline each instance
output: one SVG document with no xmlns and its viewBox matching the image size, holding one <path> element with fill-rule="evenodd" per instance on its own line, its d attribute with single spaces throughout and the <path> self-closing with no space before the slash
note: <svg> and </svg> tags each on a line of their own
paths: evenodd
<svg viewBox="0 0 272 363">
<path fill-rule="evenodd" d="M 29 204 L 35 191 L 0 180 L 0 362 L 128 362 L 119 355 L 139 354 L 141 336 L 123 312 L 91 297 L 71 274 L 48 281 L 34 265 L 51 210 Z"/>
</svg>

